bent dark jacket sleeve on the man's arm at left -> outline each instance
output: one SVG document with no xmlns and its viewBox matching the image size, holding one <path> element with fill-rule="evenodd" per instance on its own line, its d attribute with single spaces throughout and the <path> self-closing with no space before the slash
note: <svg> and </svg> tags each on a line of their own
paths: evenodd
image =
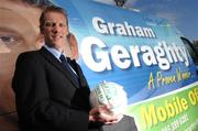
<svg viewBox="0 0 198 131">
<path fill-rule="evenodd" d="M 19 56 L 12 87 L 20 120 L 28 127 L 88 130 L 88 112 L 72 109 L 68 105 L 51 99 L 46 77 L 44 67 L 34 55 Z"/>
</svg>

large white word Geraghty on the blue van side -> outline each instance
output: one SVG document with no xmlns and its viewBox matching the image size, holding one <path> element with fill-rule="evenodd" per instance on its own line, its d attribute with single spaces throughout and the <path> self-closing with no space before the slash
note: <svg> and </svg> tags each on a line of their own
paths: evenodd
<svg viewBox="0 0 198 131">
<path fill-rule="evenodd" d="M 180 62 L 189 66 L 189 54 L 186 48 L 175 44 L 167 45 L 165 41 L 158 42 L 155 46 L 130 45 L 127 48 L 122 45 L 113 45 L 109 48 L 100 39 L 88 36 L 80 45 L 81 57 L 94 72 L 111 70 L 113 64 L 121 69 L 127 69 L 131 67 L 132 62 L 134 67 L 140 67 L 142 64 L 157 65 L 163 70 L 169 69 L 172 63 Z"/>
</svg>

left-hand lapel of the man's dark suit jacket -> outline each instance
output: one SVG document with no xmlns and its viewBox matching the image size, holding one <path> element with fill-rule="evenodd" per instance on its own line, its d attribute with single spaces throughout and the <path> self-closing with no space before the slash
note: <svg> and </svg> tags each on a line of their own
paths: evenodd
<svg viewBox="0 0 198 131">
<path fill-rule="evenodd" d="M 56 68 L 59 69 L 73 84 L 76 88 L 79 88 L 79 85 L 75 83 L 75 80 L 70 77 L 70 74 L 63 67 L 61 62 L 53 55 L 51 54 L 45 47 L 42 47 L 40 50 L 40 53 Z"/>
</svg>

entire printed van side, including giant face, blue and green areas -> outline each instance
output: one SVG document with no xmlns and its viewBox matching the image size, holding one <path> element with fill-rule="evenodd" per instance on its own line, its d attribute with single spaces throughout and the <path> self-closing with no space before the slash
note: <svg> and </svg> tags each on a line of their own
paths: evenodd
<svg viewBox="0 0 198 131">
<path fill-rule="evenodd" d="M 128 105 L 123 113 L 134 118 L 139 131 L 198 130 L 197 67 L 177 29 L 150 12 L 94 0 L 3 0 L 0 4 L 0 130 L 18 129 L 11 88 L 15 61 L 20 53 L 43 46 L 38 18 L 51 4 L 67 11 L 90 89 L 106 83 L 123 87 Z"/>
</svg>

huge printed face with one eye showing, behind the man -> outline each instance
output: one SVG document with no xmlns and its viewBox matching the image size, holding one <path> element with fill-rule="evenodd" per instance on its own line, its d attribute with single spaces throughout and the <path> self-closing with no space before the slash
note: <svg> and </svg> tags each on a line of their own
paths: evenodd
<svg viewBox="0 0 198 131">
<path fill-rule="evenodd" d="M 20 0 L 19 2 L 1 0 L 0 113 L 14 107 L 11 80 L 18 55 L 42 45 L 38 28 L 41 12 L 38 8 L 20 2 Z"/>
</svg>

